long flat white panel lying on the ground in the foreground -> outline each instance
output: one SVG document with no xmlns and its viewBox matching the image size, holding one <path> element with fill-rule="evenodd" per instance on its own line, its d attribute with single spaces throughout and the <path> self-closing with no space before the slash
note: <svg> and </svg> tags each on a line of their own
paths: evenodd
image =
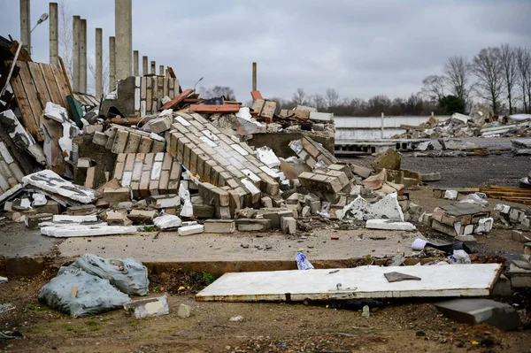
<svg viewBox="0 0 531 353">
<path fill-rule="evenodd" d="M 197 301 L 258 302 L 391 297 L 488 296 L 500 264 L 402 266 L 399 272 L 420 277 L 389 283 L 389 267 L 359 266 L 338 270 L 226 273 L 196 295 Z M 341 283 L 341 287 L 338 287 Z"/>
</svg>

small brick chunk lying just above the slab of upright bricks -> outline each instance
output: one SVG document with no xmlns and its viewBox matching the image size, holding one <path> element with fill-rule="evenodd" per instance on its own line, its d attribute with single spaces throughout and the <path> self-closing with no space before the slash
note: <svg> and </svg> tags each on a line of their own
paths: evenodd
<svg viewBox="0 0 531 353">
<path fill-rule="evenodd" d="M 100 134 L 96 134 L 93 142 L 96 138 L 101 137 Z M 130 127 L 113 125 L 105 131 L 105 135 L 107 136 L 105 148 L 115 154 L 159 153 L 165 151 L 165 139 L 158 134 L 150 134 Z"/>
</svg>

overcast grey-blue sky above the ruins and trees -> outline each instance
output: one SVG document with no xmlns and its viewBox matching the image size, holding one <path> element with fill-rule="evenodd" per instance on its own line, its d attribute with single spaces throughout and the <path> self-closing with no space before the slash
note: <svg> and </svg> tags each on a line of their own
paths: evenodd
<svg viewBox="0 0 531 353">
<path fill-rule="evenodd" d="M 104 28 L 107 54 L 114 1 L 64 3 L 88 20 L 90 55 L 95 28 Z M 48 6 L 32 0 L 32 23 Z M 0 35 L 19 39 L 19 0 L 0 0 L 0 9 Z M 450 56 L 473 58 L 502 42 L 531 48 L 530 13 L 528 0 L 133 0 L 133 47 L 172 66 L 183 88 L 203 76 L 198 86 L 229 86 L 243 102 L 253 61 L 265 97 L 291 98 L 296 88 L 407 97 Z M 45 22 L 33 32 L 35 61 L 49 61 L 48 30 Z"/>
</svg>

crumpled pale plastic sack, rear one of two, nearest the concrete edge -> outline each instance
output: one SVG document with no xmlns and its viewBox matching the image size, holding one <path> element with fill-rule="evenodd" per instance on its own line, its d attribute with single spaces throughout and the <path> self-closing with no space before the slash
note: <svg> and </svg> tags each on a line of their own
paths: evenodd
<svg viewBox="0 0 531 353">
<path fill-rule="evenodd" d="M 85 254 L 70 266 L 109 280 L 113 286 L 128 295 L 147 295 L 150 291 L 148 269 L 133 257 L 122 260 Z"/>
</svg>

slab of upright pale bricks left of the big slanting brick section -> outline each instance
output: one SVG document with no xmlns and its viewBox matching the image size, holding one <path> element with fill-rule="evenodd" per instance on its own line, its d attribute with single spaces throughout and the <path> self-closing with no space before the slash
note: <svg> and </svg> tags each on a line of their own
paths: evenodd
<svg viewBox="0 0 531 353">
<path fill-rule="evenodd" d="M 120 153 L 114 178 L 131 190 L 133 198 L 177 194 L 181 164 L 169 153 Z"/>
</svg>

